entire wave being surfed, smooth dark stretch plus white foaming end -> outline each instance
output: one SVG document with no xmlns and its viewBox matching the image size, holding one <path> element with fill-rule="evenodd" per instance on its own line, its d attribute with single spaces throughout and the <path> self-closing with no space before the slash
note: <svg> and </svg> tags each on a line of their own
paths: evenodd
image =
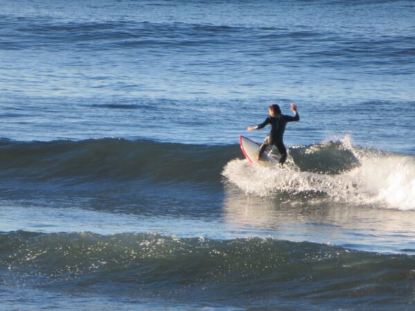
<svg viewBox="0 0 415 311">
<path fill-rule="evenodd" d="M 415 209 L 414 156 L 353 146 L 350 138 L 289 147 L 283 168 L 250 165 L 237 144 L 123 140 L 0 140 L 0 180 L 54 185 L 149 180 L 225 182 L 259 196 L 322 198 Z"/>
</svg>

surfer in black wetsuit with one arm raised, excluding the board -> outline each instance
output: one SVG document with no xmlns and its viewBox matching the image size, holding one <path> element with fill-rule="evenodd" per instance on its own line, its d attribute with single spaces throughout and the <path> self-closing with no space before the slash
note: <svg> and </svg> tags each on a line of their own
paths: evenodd
<svg viewBox="0 0 415 311">
<path fill-rule="evenodd" d="M 269 117 L 267 117 L 264 122 L 257 126 L 248 126 L 247 130 L 252 131 L 256 129 L 262 129 L 267 124 L 271 124 L 271 131 L 266 136 L 264 143 L 261 144 L 261 147 L 259 148 L 257 160 L 261 160 L 262 153 L 264 153 L 266 147 L 275 146 L 277 147 L 278 152 L 281 154 L 279 163 L 284 164 L 284 162 L 286 162 L 287 149 L 284 146 L 284 141 L 282 139 L 286 128 L 286 124 L 288 122 L 299 121 L 297 107 L 293 102 L 291 103 L 291 110 L 294 113 L 293 117 L 291 117 L 291 115 L 283 115 L 281 113 L 281 109 L 277 104 L 270 105 L 268 107 Z"/>
</svg>

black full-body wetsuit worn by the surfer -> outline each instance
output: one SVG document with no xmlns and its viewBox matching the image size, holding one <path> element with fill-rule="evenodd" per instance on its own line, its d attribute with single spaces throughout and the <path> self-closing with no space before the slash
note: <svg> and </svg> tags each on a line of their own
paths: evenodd
<svg viewBox="0 0 415 311">
<path fill-rule="evenodd" d="M 299 115 L 296 112 L 293 117 L 291 115 L 276 115 L 275 117 L 267 117 L 264 122 L 255 126 L 255 129 L 262 129 L 267 124 L 271 124 L 271 131 L 264 140 L 264 143 L 261 144 L 259 148 L 259 157 L 262 156 L 266 147 L 274 145 L 277 147 L 279 153 L 281 153 L 281 158 L 279 163 L 284 164 L 287 160 L 287 149 L 284 146 L 284 141 L 282 137 L 288 122 L 299 121 Z"/>
</svg>

